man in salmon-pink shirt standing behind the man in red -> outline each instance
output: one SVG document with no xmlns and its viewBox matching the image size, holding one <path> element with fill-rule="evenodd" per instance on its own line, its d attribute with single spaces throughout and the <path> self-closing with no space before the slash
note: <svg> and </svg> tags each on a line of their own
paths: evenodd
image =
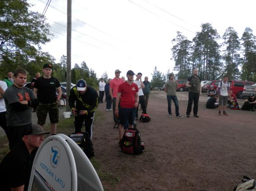
<svg viewBox="0 0 256 191">
<path fill-rule="evenodd" d="M 119 126 L 119 118 L 116 117 L 115 115 L 115 109 L 116 109 L 116 96 L 117 96 L 117 90 L 118 90 L 118 86 L 120 84 L 122 84 L 124 82 L 124 80 L 120 77 L 120 70 L 116 70 L 115 71 L 115 77 L 110 81 L 110 85 L 109 85 L 109 94 L 111 96 L 112 99 L 112 103 L 113 103 L 113 118 L 114 118 L 114 128 Z M 120 105 L 117 106 L 120 109 Z"/>
</svg>

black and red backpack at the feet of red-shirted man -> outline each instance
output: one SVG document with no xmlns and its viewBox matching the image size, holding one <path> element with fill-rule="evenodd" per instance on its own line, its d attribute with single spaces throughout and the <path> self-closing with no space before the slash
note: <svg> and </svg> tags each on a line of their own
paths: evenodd
<svg viewBox="0 0 256 191">
<path fill-rule="evenodd" d="M 121 139 L 121 150 L 131 155 L 140 155 L 144 151 L 144 143 L 140 139 L 140 132 L 135 128 L 125 130 Z"/>
</svg>

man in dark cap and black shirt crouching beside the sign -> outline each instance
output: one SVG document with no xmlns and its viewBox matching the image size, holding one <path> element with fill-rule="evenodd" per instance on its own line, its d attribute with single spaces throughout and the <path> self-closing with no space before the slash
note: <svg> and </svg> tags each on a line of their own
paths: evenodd
<svg viewBox="0 0 256 191">
<path fill-rule="evenodd" d="M 44 132 L 38 124 L 32 124 L 22 140 L 0 163 L 0 185 L 2 191 L 27 191 L 33 160 L 37 148 L 43 142 Z"/>
</svg>

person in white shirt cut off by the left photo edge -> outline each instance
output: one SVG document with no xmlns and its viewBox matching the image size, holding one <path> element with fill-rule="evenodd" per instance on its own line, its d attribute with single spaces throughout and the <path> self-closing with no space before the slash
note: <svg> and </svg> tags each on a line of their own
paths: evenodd
<svg viewBox="0 0 256 191">
<path fill-rule="evenodd" d="M 5 108 L 5 99 L 3 98 L 3 95 L 6 89 L 7 89 L 7 84 L 4 81 L 0 81 L 0 126 L 5 130 L 5 134 L 7 135 L 6 117 L 5 117 L 6 108 Z"/>
</svg>

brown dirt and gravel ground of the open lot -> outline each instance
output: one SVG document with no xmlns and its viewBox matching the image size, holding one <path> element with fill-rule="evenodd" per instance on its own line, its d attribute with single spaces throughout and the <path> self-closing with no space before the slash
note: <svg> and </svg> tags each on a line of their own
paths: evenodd
<svg viewBox="0 0 256 191">
<path fill-rule="evenodd" d="M 187 92 L 177 96 L 185 115 Z M 218 116 L 217 110 L 205 108 L 205 100 L 200 97 L 200 118 L 168 118 L 165 93 L 153 91 L 151 121 L 138 124 L 145 144 L 141 155 L 121 152 L 112 112 L 100 104 L 93 143 L 104 190 L 231 191 L 243 175 L 256 178 L 256 112 L 228 109 L 229 116 Z"/>
</svg>

